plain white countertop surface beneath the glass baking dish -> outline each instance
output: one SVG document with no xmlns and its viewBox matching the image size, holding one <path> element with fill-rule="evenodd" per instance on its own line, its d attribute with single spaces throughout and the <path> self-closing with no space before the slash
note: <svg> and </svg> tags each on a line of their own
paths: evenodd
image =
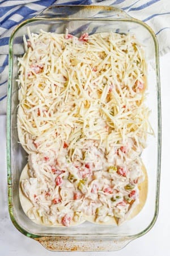
<svg viewBox="0 0 170 256">
<path fill-rule="evenodd" d="M 57 252 L 56 255 L 130 255 L 130 256 L 168 256 L 170 230 L 170 53 L 160 58 L 160 77 L 162 91 L 162 172 L 160 184 L 160 208 L 158 220 L 145 236 L 132 241 L 124 249 L 113 252 L 67 253 Z M 6 116 L 0 115 L 0 255 L 7 256 L 35 256 L 54 255 L 52 251 L 44 249 L 40 243 L 25 237 L 12 224 L 7 207 L 7 171 L 6 171 Z"/>
</svg>

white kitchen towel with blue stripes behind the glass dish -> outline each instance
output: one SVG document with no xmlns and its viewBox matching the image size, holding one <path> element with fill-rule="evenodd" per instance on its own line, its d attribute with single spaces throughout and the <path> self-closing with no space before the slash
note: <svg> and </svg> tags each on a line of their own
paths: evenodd
<svg viewBox="0 0 170 256">
<path fill-rule="evenodd" d="M 8 40 L 14 27 L 50 5 L 113 5 L 146 22 L 159 40 L 160 54 L 170 50 L 169 0 L 0 0 L 0 114 L 6 113 Z"/>
</svg>

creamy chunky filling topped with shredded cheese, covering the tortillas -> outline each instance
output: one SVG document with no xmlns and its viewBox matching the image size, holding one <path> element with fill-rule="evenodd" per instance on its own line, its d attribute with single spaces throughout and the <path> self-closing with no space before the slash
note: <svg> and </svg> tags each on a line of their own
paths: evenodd
<svg viewBox="0 0 170 256">
<path fill-rule="evenodd" d="M 28 37 L 18 59 L 22 207 L 29 201 L 27 216 L 49 226 L 121 224 L 147 189 L 143 49 L 114 32 Z"/>
</svg>

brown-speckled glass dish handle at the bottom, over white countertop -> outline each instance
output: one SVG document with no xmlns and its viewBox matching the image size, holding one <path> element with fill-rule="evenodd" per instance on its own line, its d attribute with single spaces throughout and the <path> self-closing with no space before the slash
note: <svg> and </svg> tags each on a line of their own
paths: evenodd
<svg viewBox="0 0 170 256">
<path fill-rule="evenodd" d="M 128 237 L 41 237 L 34 239 L 51 251 L 117 251 L 132 241 Z"/>
</svg>

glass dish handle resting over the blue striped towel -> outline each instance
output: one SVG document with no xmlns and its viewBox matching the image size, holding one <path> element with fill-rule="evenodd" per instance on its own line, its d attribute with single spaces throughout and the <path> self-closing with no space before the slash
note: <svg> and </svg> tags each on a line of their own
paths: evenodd
<svg viewBox="0 0 170 256">
<path fill-rule="evenodd" d="M 41 11 L 36 18 L 45 19 L 128 19 L 124 10 L 103 5 L 52 5 Z"/>
</svg>

